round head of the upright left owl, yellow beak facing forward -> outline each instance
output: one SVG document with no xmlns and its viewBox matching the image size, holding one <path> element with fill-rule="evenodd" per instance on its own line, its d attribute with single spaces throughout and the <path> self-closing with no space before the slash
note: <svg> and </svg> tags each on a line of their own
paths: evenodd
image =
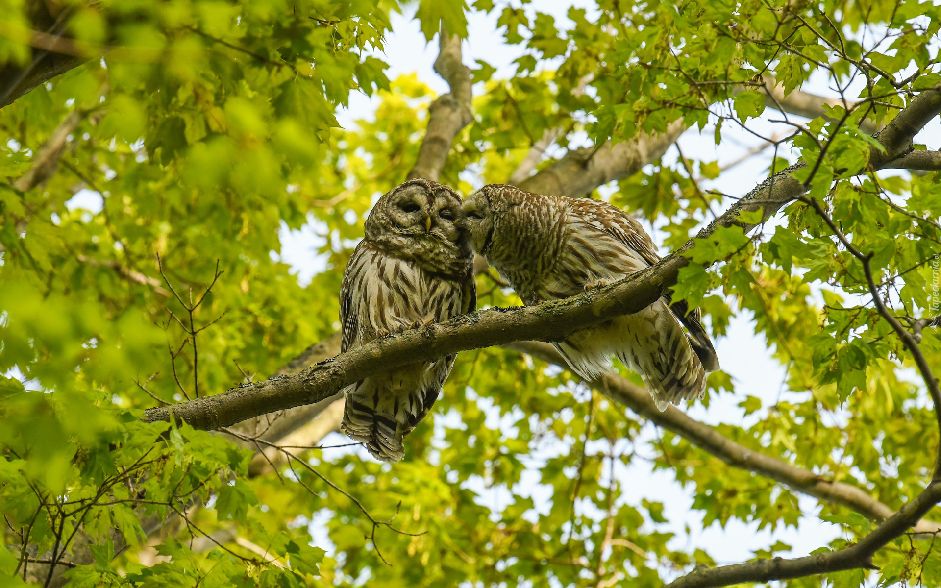
<svg viewBox="0 0 941 588">
<path fill-rule="evenodd" d="M 450 275 L 473 259 L 466 232 L 455 225 L 460 210 L 461 198 L 448 186 L 409 180 L 376 201 L 365 237 L 395 257 Z"/>
</svg>

